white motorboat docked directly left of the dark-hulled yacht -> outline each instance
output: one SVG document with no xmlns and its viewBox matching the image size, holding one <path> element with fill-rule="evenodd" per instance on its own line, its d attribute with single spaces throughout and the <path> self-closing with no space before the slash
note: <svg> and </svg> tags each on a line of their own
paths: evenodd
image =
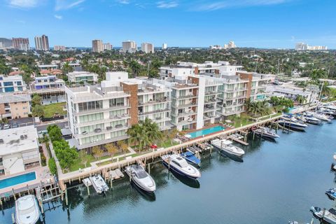
<svg viewBox="0 0 336 224">
<path fill-rule="evenodd" d="M 155 181 L 141 165 L 131 165 L 126 167 L 125 172 L 131 180 L 142 190 L 153 193 L 156 190 Z"/>
</svg>

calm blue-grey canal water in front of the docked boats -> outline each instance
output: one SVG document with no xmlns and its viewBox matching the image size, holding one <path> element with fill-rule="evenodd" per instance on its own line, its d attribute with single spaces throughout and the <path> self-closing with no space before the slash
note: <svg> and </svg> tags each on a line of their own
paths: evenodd
<svg viewBox="0 0 336 224">
<path fill-rule="evenodd" d="M 282 132 L 270 142 L 251 136 L 244 162 L 213 153 L 202 158 L 199 181 L 177 178 L 160 163 L 151 174 L 155 197 L 127 181 L 114 182 L 106 197 L 87 196 L 83 186 L 69 190 L 69 209 L 45 204 L 45 223 L 308 223 L 309 208 L 330 208 L 325 190 L 335 186 L 330 172 L 336 152 L 336 122 L 309 125 L 306 132 Z M 6 208 L 0 223 L 10 223 Z M 318 223 L 315 221 L 315 223 Z"/>
</svg>

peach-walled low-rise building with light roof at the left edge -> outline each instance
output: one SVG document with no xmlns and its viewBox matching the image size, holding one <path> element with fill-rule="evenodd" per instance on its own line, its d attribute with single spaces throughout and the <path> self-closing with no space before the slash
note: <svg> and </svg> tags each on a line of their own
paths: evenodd
<svg viewBox="0 0 336 224">
<path fill-rule="evenodd" d="M 27 118 L 30 111 L 29 94 L 0 94 L 0 118 Z"/>
</svg>

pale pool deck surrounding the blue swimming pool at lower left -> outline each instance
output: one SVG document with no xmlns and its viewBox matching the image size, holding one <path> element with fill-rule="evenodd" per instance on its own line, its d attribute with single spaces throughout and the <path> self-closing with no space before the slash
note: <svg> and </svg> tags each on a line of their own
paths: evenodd
<svg viewBox="0 0 336 224">
<path fill-rule="evenodd" d="M 41 182 L 48 183 L 53 181 L 52 174 L 50 174 L 48 167 L 34 167 L 27 169 L 24 172 L 19 172 L 16 174 L 10 174 L 6 176 L 1 176 L 0 181 L 3 179 L 8 179 L 13 176 L 19 176 L 22 174 L 28 174 L 31 172 L 36 172 L 36 179 L 33 181 L 27 181 L 25 183 L 19 183 L 15 186 L 10 186 L 7 188 L 0 189 L 0 197 L 8 197 L 14 193 L 20 193 L 22 191 L 27 191 L 28 189 L 34 189 L 41 185 Z"/>
</svg>

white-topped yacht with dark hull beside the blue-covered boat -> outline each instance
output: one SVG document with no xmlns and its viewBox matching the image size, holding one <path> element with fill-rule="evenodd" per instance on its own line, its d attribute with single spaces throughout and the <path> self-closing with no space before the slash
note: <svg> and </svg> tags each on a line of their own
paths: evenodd
<svg viewBox="0 0 336 224">
<path fill-rule="evenodd" d="M 200 171 L 192 165 L 188 164 L 186 159 L 181 157 L 181 155 L 162 155 L 161 158 L 165 167 L 182 176 L 186 176 L 191 179 L 197 179 L 201 176 Z"/>
</svg>

